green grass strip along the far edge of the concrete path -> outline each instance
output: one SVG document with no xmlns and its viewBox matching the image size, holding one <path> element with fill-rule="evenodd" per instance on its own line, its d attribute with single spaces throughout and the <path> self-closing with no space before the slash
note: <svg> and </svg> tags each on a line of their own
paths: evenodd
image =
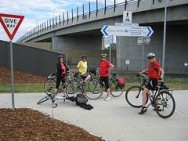
<svg viewBox="0 0 188 141">
<path fill-rule="evenodd" d="M 131 86 L 140 85 L 140 79 L 134 76 L 125 76 L 128 89 Z M 188 90 L 188 78 L 165 79 L 165 84 L 173 90 Z M 0 84 L 0 93 L 10 93 L 12 91 L 11 84 Z M 40 93 L 44 92 L 44 84 L 14 84 L 15 93 Z"/>
</svg>

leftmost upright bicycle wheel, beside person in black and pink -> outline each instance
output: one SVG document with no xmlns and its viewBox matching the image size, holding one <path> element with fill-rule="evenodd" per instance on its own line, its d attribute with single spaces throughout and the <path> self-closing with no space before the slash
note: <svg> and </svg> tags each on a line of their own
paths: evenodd
<svg viewBox="0 0 188 141">
<path fill-rule="evenodd" d="M 46 94 L 53 94 L 53 90 L 55 88 L 56 81 L 53 78 L 49 78 L 44 83 L 44 92 Z"/>
</svg>

